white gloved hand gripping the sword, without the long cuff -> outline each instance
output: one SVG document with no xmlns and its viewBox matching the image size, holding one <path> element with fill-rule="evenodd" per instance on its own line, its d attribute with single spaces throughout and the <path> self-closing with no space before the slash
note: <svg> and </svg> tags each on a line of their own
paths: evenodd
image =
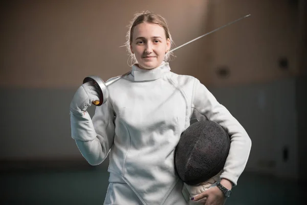
<svg viewBox="0 0 307 205">
<path fill-rule="evenodd" d="M 99 92 L 91 81 L 84 83 L 75 93 L 71 101 L 70 110 L 74 114 L 82 114 L 92 105 L 92 101 L 99 100 Z"/>
</svg>

